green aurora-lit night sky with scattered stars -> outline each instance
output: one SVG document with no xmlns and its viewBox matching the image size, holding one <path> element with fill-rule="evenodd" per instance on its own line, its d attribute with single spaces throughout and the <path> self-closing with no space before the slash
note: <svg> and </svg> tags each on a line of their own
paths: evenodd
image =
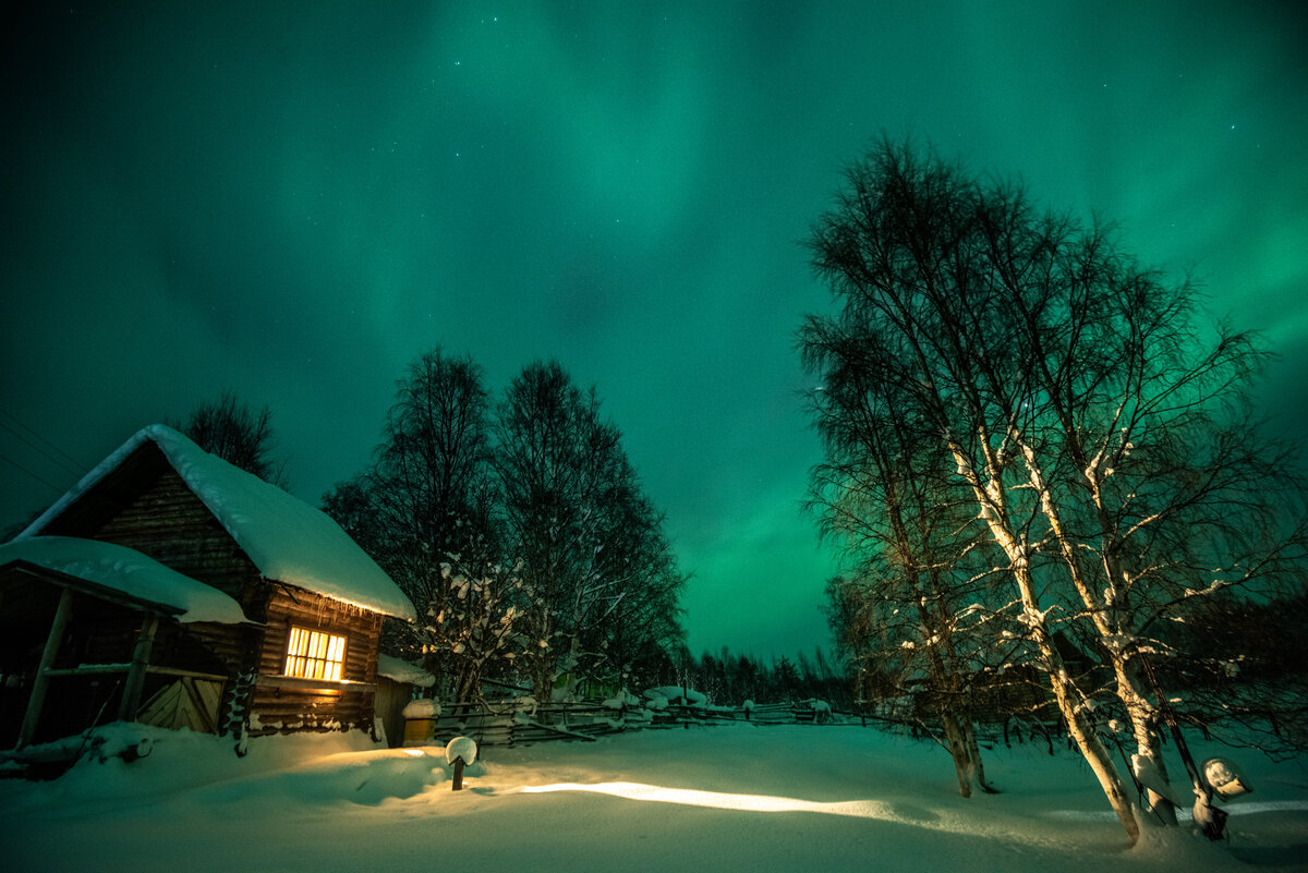
<svg viewBox="0 0 1308 873">
<path fill-rule="evenodd" d="M 667 514 L 692 650 L 812 651 L 836 567 L 794 333 L 831 301 L 802 240 L 883 132 L 1193 271 L 1308 427 L 1298 4 L 13 5 L 5 527 L 78 478 L 59 452 L 84 472 L 225 388 L 317 503 L 422 352 L 497 395 L 557 358 Z"/>
</svg>

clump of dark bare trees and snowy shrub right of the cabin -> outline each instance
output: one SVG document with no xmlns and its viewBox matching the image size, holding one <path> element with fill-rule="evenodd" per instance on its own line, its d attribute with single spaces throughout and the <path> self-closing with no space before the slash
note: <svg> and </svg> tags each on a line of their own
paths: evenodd
<svg viewBox="0 0 1308 873">
<path fill-rule="evenodd" d="M 684 636 L 685 579 L 594 388 L 557 362 L 492 397 L 471 357 L 429 352 L 398 383 L 371 464 L 324 510 L 419 612 L 385 646 L 446 699 L 484 680 L 538 699 L 653 682 Z"/>
</svg>

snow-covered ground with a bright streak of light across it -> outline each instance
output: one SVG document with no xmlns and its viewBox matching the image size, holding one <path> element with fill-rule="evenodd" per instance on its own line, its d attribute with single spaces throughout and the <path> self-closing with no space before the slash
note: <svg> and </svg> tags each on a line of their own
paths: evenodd
<svg viewBox="0 0 1308 873">
<path fill-rule="evenodd" d="M 82 761 L 54 782 L 0 783 L 0 868 L 1308 869 L 1308 762 L 1218 748 L 1198 751 L 1235 758 L 1254 789 L 1227 806 L 1230 842 L 1150 829 L 1129 849 L 1087 768 L 1040 745 L 990 751 L 1002 793 L 964 800 L 938 748 L 853 725 L 488 748 L 458 793 L 441 748 L 272 737 L 237 759 L 213 737 L 152 736 L 133 763 Z"/>
</svg>

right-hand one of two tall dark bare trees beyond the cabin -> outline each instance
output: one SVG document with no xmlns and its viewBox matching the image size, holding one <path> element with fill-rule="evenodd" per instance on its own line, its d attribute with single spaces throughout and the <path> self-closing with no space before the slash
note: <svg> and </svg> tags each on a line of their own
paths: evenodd
<svg viewBox="0 0 1308 873">
<path fill-rule="evenodd" d="M 536 694 L 560 672 L 629 672 L 651 647 L 679 640 L 684 579 L 594 388 L 582 392 L 557 362 L 525 367 L 500 404 L 496 438 L 506 548 L 531 597 Z"/>
</svg>

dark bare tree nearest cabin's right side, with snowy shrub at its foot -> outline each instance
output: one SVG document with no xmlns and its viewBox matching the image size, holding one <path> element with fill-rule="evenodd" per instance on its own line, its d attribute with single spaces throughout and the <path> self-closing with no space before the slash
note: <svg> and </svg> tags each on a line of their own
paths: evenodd
<svg viewBox="0 0 1308 873">
<path fill-rule="evenodd" d="M 422 622 L 395 644 L 421 656 L 463 700 L 523 640 L 521 579 L 500 554 L 480 367 L 439 349 L 396 383 L 371 467 L 324 497 L 324 508 L 413 601 Z"/>
</svg>

